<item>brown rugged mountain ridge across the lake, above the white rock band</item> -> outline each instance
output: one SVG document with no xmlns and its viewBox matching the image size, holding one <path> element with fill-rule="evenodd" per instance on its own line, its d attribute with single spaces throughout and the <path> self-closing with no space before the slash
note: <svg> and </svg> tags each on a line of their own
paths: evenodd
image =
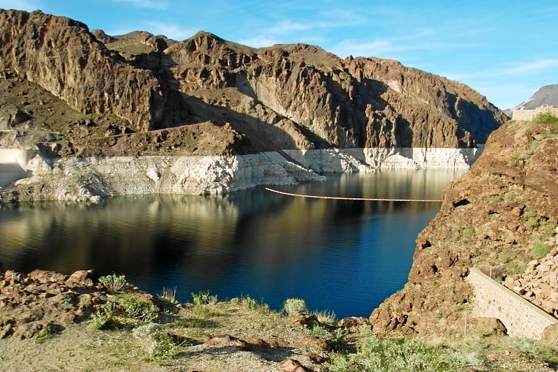
<svg viewBox="0 0 558 372">
<path fill-rule="evenodd" d="M 46 142 L 59 155 L 128 154 L 130 133 L 202 123 L 218 146 L 198 146 L 193 129 L 190 144 L 163 135 L 135 154 L 474 147 L 505 121 L 464 84 L 310 45 L 108 36 L 40 11 L 0 10 L 0 30 L 0 126 L 18 131 L 0 143 Z"/>
</svg>

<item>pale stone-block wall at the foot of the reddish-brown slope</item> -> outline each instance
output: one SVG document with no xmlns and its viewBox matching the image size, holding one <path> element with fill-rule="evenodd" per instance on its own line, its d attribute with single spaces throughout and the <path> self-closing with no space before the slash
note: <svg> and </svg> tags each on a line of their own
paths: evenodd
<svg viewBox="0 0 558 372">
<path fill-rule="evenodd" d="M 474 316 L 498 318 L 508 335 L 540 340 L 543 330 L 558 319 L 517 295 L 478 269 L 470 269 L 467 281 L 475 290 Z"/>
</svg>

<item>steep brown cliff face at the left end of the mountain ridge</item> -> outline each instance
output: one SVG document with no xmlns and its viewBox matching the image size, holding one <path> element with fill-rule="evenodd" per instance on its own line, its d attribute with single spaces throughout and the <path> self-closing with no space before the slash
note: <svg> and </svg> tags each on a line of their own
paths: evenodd
<svg viewBox="0 0 558 372">
<path fill-rule="evenodd" d="M 165 101 L 149 70 L 107 50 L 66 17 L 0 10 L 0 70 L 36 82 L 84 113 L 114 114 L 137 130 L 156 125 Z"/>
</svg>

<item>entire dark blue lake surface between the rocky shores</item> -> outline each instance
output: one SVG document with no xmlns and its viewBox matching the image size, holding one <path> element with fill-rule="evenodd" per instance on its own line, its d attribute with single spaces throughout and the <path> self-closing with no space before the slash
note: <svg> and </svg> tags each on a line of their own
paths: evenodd
<svg viewBox="0 0 558 372">
<path fill-rule="evenodd" d="M 439 199 L 462 172 L 333 174 L 294 193 Z M 310 200 L 261 188 L 223 197 L 153 195 L 0 209 L 0 262 L 17 271 L 96 269 L 149 292 L 210 290 L 280 308 L 289 297 L 338 317 L 368 316 L 402 288 L 414 240 L 440 203 Z"/>
</svg>

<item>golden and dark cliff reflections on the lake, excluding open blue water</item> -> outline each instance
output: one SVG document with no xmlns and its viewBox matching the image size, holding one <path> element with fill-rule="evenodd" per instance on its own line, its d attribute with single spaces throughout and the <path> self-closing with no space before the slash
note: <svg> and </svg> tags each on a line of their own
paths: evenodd
<svg viewBox="0 0 558 372">
<path fill-rule="evenodd" d="M 322 184 L 290 189 L 437 199 L 453 178 L 453 171 L 382 171 L 331 175 Z M 438 208 L 437 203 L 306 200 L 263 190 L 209 198 L 123 197 L 92 205 L 20 204 L 0 211 L 0 238 L 6 242 L 1 257 L 6 267 L 20 271 L 94 267 L 102 274 L 148 278 L 174 269 L 196 280 L 218 280 L 235 265 L 277 271 L 319 255 L 339 229 L 358 227 L 370 216 Z"/>
</svg>

